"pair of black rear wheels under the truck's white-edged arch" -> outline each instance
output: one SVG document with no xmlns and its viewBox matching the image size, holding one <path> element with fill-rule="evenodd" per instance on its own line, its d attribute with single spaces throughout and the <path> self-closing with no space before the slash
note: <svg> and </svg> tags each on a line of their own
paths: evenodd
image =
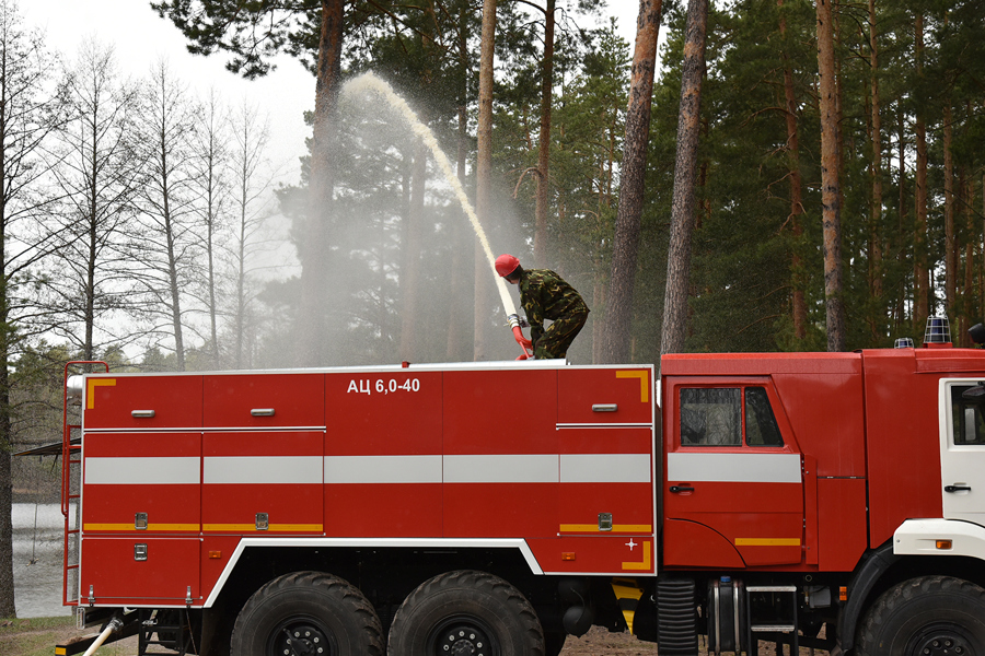
<svg viewBox="0 0 985 656">
<path fill-rule="evenodd" d="M 233 629 L 233 656 L 383 653 L 380 620 L 362 593 L 320 572 L 288 574 L 264 585 Z M 491 574 L 460 571 L 425 582 L 404 600 L 386 653 L 544 656 L 545 642 L 533 607 L 515 587 Z"/>
</svg>

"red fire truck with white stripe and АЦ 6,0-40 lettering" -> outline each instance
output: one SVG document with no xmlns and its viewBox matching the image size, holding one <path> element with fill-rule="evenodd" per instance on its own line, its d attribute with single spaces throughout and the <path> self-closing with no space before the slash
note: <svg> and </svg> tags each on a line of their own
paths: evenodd
<svg viewBox="0 0 985 656">
<path fill-rule="evenodd" d="M 983 656 L 985 352 L 931 345 L 70 376 L 58 653 Z"/>
</svg>

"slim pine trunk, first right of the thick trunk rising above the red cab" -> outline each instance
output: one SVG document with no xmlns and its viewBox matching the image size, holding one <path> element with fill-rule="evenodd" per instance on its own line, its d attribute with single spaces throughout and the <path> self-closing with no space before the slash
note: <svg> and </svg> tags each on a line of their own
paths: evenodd
<svg viewBox="0 0 985 656">
<path fill-rule="evenodd" d="M 872 300 L 870 329 L 873 340 L 885 330 L 882 302 L 882 116 L 879 99 L 879 40 L 876 0 L 869 0 L 869 66 L 872 85 L 872 212 L 869 216 L 869 286 Z"/>
</svg>

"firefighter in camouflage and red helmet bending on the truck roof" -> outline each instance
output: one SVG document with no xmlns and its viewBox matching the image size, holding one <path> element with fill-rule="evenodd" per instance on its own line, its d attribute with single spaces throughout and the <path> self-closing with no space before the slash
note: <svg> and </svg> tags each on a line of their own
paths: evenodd
<svg viewBox="0 0 985 656">
<path fill-rule="evenodd" d="M 496 258 L 496 272 L 520 285 L 520 303 L 530 321 L 534 358 L 565 358 L 588 319 L 589 308 L 570 284 L 548 269 L 524 269 L 509 254 Z M 544 319 L 553 323 L 544 330 Z"/>
</svg>

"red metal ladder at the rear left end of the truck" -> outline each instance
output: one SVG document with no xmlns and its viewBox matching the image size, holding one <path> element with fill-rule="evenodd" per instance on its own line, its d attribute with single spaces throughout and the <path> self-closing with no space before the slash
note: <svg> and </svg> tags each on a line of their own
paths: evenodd
<svg viewBox="0 0 985 656">
<path fill-rule="evenodd" d="M 68 380 L 71 367 L 101 365 L 103 371 L 109 373 L 109 365 L 97 360 L 74 360 L 65 365 L 65 385 L 62 386 L 62 434 L 61 434 L 61 515 L 65 519 L 65 535 L 62 549 L 62 577 L 61 602 L 62 606 L 79 606 L 82 590 L 76 589 L 74 594 L 69 588 L 69 573 L 76 574 L 76 588 L 79 585 L 78 570 L 81 554 L 80 534 L 81 508 L 79 500 L 82 497 L 82 424 L 74 424 L 69 419 L 69 389 Z M 78 437 L 73 437 L 78 433 Z M 74 513 L 72 502 L 74 505 Z M 74 522 L 73 522 L 74 519 Z M 74 539 L 74 541 L 73 541 Z M 74 547 L 74 549 L 72 549 Z"/>
</svg>

